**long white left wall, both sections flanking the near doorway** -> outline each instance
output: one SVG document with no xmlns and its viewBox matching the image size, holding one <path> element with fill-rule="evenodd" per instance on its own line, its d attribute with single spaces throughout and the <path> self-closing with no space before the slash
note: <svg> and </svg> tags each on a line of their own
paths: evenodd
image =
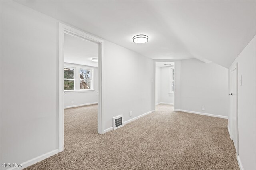
<svg viewBox="0 0 256 170">
<path fill-rule="evenodd" d="M 58 149 L 59 23 L 16 2 L 0 3 L 0 162 L 22 163 Z M 127 121 L 154 109 L 153 70 L 152 59 L 105 42 L 105 129 L 113 116 Z"/>
</svg>

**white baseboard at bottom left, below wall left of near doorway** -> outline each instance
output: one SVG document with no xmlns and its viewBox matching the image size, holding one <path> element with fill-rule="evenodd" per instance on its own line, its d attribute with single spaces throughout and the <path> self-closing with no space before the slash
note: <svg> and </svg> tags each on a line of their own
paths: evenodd
<svg viewBox="0 0 256 170">
<path fill-rule="evenodd" d="M 50 151 L 50 152 L 48 152 L 46 154 L 42 154 L 40 156 L 37 156 L 36 158 L 30 159 L 30 160 L 28 160 L 26 162 L 21 163 L 22 167 L 20 167 L 20 168 L 12 167 L 12 168 L 9 168 L 8 170 L 21 170 L 21 169 L 27 168 L 28 166 L 36 164 L 37 162 L 40 162 L 40 161 L 42 161 L 42 160 L 44 160 L 46 158 L 49 158 L 50 156 L 58 154 L 58 153 L 59 153 L 58 149 L 52 150 L 52 151 Z"/>
</svg>

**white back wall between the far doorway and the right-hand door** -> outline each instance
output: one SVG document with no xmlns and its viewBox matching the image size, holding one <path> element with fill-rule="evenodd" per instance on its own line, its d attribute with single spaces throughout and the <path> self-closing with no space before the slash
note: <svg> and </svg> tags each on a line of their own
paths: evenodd
<svg viewBox="0 0 256 170">
<path fill-rule="evenodd" d="M 228 116 L 228 69 L 215 63 L 186 59 L 181 60 L 180 73 L 182 110 Z M 176 103 L 175 109 L 178 109 Z"/>
</svg>

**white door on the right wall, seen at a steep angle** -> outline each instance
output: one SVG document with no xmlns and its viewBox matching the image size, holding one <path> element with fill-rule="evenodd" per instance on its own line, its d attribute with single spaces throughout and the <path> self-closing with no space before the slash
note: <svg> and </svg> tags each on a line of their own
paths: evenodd
<svg viewBox="0 0 256 170">
<path fill-rule="evenodd" d="M 236 153 L 238 153 L 238 129 L 237 129 L 237 68 L 231 72 L 231 93 L 232 93 L 232 140 L 234 142 Z"/>
</svg>

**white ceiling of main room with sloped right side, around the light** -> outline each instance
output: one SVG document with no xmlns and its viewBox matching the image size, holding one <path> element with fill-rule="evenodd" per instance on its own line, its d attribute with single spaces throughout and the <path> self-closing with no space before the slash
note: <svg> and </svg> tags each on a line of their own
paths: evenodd
<svg viewBox="0 0 256 170">
<path fill-rule="evenodd" d="M 255 1 L 17 1 L 152 59 L 229 67 L 256 33 Z M 146 34 L 145 44 L 132 37 Z"/>
</svg>

